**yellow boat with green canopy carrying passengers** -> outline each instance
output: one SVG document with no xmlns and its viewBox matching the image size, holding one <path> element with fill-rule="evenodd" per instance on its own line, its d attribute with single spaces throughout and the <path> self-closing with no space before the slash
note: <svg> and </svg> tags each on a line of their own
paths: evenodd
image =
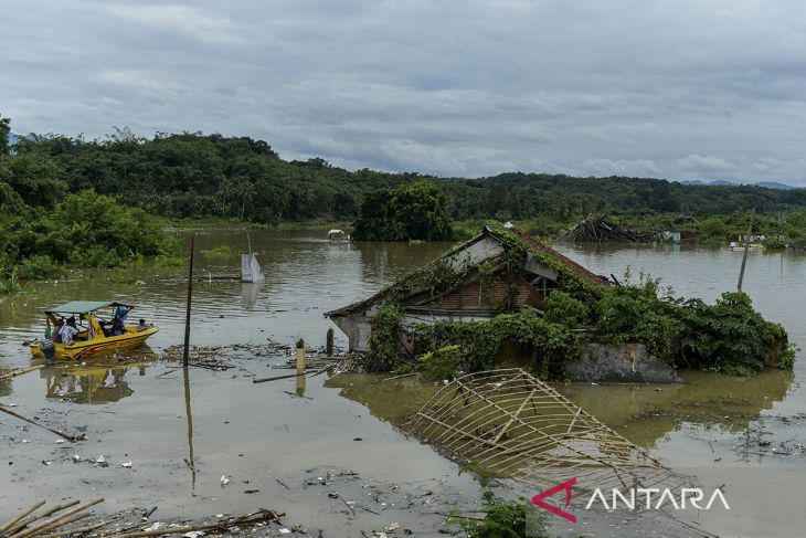
<svg viewBox="0 0 806 538">
<path fill-rule="evenodd" d="M 106 316 L 105 319 L 103 312 L 109 308 L 110 315 Z M 64 323 L 65 317 L 74 317 L 78 329 L 73 344 L 54 342 L 53 358 L 78 360 L 141 346 L 148 337 L 159 331 L 157 327 L 150 325 L 141 328 L 137 325 L 124 325 L 123 334 L 117 336 L 107 336 L 104 328 L 105 325 L 112 323 L 109 320 L 120 319 L 120 323 L 123 323 L 132 308 L 131 305 L 117 302 L 72 300 L 45 310 L 45 316 L 52 327 L 57 327 L 60 319 Z M 31 344 L 31 355 L 39 358 L 45 357 L 42 349 L 40 349 L 39 340 Z"/>
</svg>

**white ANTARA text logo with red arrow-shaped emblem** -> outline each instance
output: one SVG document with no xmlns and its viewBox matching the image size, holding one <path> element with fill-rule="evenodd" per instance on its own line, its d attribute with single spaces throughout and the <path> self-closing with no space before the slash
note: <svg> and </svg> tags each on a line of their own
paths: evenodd
<svg viewBox="0 0 806 538">
<path fill-rule="evenodd" d="M 574 485 L 576 485 L 576 477 L 539 493 L 532 497 L 532 504 L 571 523 L 576 523 L 576 516 L 566 511 L 571 505 Z M 563 504 L 562 508 L 558 508 L 545 502 L 548 497 L 560 492 L 565 494 L 564 503 L 561 503 Z M 731 509 L 724 493 L 720 488 L 707 490 L 701 487 L 681 487 L 678 489 L 668 487 L 662 489 L 658 487 L 630 487 L 622 489 L 614 487 L 608 490 L 597 487 L 588 497 L 585 509 L 590 510 L 591 508 L 602 507 L 608 511 L 618 509 L 636 511 L 670 508 L 675 510 L 685 510 L 688 508 L 710 510 L 712 507 L 719 508 L 720 506 L 725 510 Z"/>
</svg>

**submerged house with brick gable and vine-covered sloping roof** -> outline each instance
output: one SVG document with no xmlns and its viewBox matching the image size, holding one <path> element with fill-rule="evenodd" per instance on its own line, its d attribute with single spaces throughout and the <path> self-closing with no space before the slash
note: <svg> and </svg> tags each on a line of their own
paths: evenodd
<svg viewBox="0 0 806 538">
<path fill-rule="evenodd" d="M 406 327 L 437 320 L 487 320 L 524 308 L 542 313 L 554 289 L 608 285 L 606 277 L 524 232 L 490 224 L 392 286 L 325 316 L 348 336 L 351 351 L 368 351 L 372 318 L 391 300 L 401 305 Z"/>
</svg>

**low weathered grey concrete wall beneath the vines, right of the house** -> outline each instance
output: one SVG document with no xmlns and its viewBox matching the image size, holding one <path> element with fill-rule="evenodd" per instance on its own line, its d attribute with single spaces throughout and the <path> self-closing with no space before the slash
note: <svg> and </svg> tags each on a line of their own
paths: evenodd
<svg viewBox="0 0 806 538">
<path fill-rule="evenodd" d="M 682 383 L 674 368 L 647 352 L 643 344 L 580 346 L 582 357 L 565 365 L 565 379 L 584 382 Z"/>
</svg>

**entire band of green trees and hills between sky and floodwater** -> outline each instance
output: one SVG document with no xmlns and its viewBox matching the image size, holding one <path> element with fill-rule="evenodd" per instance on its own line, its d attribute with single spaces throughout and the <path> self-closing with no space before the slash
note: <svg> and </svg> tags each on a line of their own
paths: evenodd
<svg viewBox="0 0 806 538">
<path fill-rule="evenodd" d="M 77 240 L 70 233 L 88 222 L 87 215 L 75 220 L 78 203 L 106 215 L 96 228 L 106 230 L 123 218 L 144 238 L 156 233 L 148 215 L 263 224 L 356 221 L 357 236 L 370 240 L 450 239 L 457 228 L 452 230 L 452 221 L 487 219 L 522 221 L 550 235 L 590 214 L 608 213 L 623 222 L 675 213 L 707 221 L 731 215 L 707 222 L 724 234 L 739 229 L 743 219 L 736 214 L 750 208 L 759 222 L 761 215 L 775 215 L 767 221 L 798 230 L 806 217 L 806 189 L 523 172 L 467 179 L 350 171 L 321 158 L 284 160 L 268 143 L 250 137 L 158 133 L 145 138 L 116 128 L 103 139 L 31 134 L 9 145 L 10 128 L 0 116 L 0 265 L 6 268 L 38 255 L 56 262 L 86 259 L 86 249 L 67 252 Z M 113 228 L 120 235 L 125 226 Z M 135 236 L 124 242 L 108 236 L 98 236 L 91 264 L 114 265 L 161 249 L 147 239 L 139 244 Z M 107 243 L 114 256 L 102 255 Z"/>
</svg>

